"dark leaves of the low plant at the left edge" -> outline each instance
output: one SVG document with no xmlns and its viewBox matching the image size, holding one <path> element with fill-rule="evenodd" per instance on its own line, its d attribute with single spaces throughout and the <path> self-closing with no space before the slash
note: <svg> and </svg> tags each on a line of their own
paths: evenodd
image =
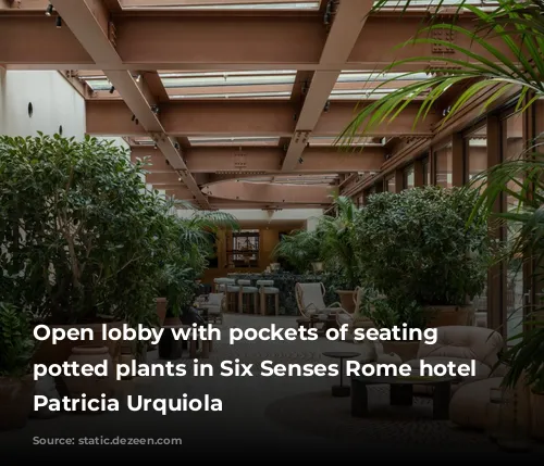
<svg viewBox="0 0 544 466">
<path fill-rule="evenodd" d="M 22 377 L 30 373 L 36 341 L 27 315 L 0 302 L 0 376 Z"/>
</svg>

